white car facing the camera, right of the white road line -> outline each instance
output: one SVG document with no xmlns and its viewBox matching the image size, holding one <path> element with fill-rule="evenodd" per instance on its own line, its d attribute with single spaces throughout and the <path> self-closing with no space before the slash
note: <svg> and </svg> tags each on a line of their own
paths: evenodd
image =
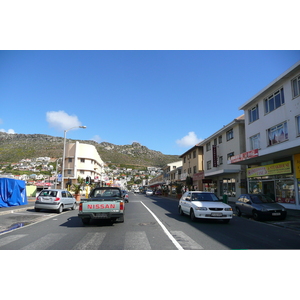
<svg viewBox="0 0 300 300">
<path fill-rule="evenodd" d="M 181 215 L 197 219 L 223 220 L 229 223 L 232 219 L 232 208 L 219 200 L 214 193 L 202 191 L 185 192 L 179 200 L 178 210 Z"/>
</svg>

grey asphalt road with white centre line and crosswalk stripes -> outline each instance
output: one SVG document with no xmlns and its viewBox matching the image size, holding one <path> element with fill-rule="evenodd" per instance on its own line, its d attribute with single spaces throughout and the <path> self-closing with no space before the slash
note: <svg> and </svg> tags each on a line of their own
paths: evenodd
<svg viewBox="0 0 300 300">
<path fill-rule="evenodd" d="M 93 221 L 83 226 L 77 210 L 20 212 L 18 220 L 23 218 L 25 226 L 1 233 L 0 250 L 300 249 L 299 231 L 240 217 L 229 224 L 192 222 L 178 214 L 176 200 L 132 193 L 129 197 L 125 222 L 113 225 Z"/>
</svg>

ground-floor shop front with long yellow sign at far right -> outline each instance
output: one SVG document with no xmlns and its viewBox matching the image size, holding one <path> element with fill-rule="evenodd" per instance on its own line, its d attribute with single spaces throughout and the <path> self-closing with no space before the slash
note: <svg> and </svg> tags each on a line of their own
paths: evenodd
<svg viewBox="0 0 300 300">
<path fill-rule="evenodd" d="M 249 193 L 266 194 L 286 208 L 299 209 L 300 179 L 297 161 L 261 165 L 247 169 Z"/>
</svg>

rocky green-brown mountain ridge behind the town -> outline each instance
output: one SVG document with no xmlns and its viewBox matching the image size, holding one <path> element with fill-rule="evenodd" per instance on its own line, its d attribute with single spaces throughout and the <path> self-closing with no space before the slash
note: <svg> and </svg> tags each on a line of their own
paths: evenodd
<svg viewBox="0 0 300 300">
<path fill-rule="evenodd" d="M 67 139 L 67 142 L 77 140 Z M 150 150 L 139 143 L 132 145 L 114 145 L 107 142 L 81 141 L 79 143 L 94 145 L 104 162 L 117 165 L 137 165 L 163 167 L 180 160 L 178 155 L 165 155 Z M 0 163 L 16 163 L 23 158 L 61 157 L 63 138 L 44 134 L 8 134 L 0 132 Z"/>
</svg>

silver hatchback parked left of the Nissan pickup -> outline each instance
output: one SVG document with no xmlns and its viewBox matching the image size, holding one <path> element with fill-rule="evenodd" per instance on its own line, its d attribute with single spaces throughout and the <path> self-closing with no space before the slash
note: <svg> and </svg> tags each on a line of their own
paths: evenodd
<svg viewBox="0 0 300 300">
<path fill-rule="evenodd" d="M 61 189 L 42 190 L 34 204 L 35 211 L 46 209 L 61 213 L 66 208 L 76 209 L 76 200 L 69 191 Z"/>
</svg>

